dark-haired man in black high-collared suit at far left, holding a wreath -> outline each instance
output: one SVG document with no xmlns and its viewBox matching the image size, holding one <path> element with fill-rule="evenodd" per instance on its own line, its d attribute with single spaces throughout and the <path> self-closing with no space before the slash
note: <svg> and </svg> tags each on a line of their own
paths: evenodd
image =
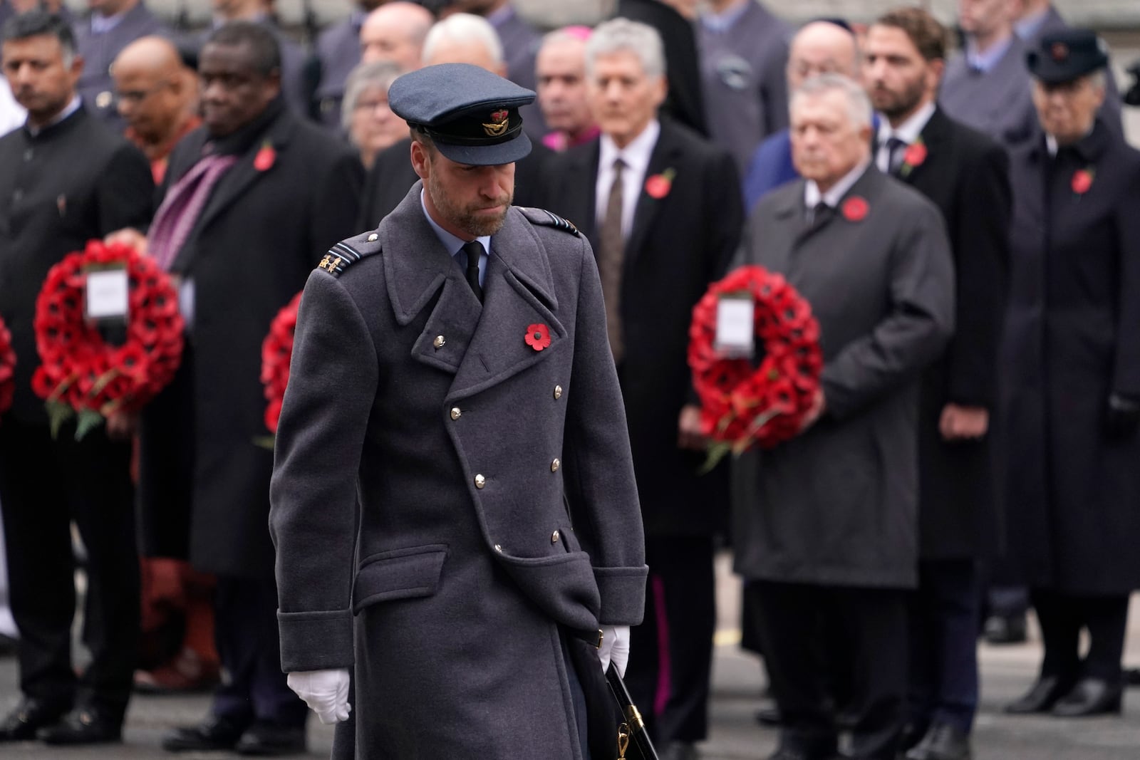
<svg viewBox="0 0 1140 760">
<path fill-rule="evenodd" d="M 32 321 L 51 265 L 91 238 L 150 219 L 154 183 L 137 148 L 87 111 L 71 27 L 33 10 L 8 22 L 3 72 L 26 124 L 0 139 L 0 316 L 16 350 L 16 393 L 0 424 L 0 505 L 11 610 L 19 627 L 23 700 L 0 742 L 117 741 L 138 655 L 139 569 L 130 444 L 96 430 L 54 436 L 32 392 Z M 121 420 L 116 420 L 121 422 Z M 70 525 L 88 549 L 84 639 L 92 660 L 76 683 L 71 659 L 75 563 Z M 70 711 L 70 712 L 68 712 Z"/>
</svg>

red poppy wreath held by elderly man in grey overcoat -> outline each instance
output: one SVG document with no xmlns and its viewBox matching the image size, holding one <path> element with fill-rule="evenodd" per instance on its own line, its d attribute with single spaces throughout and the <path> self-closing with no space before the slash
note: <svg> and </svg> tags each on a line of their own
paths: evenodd
<svg viewBox="0 0 1140 760">
<path fill-rule="evenodd" d="M 726 358 L 715 345 L 719 299 L 742 295 L 752 299 L 758 363 Z M 820 326 L 782 276 L 741 267 L 693 308 L 689 366 L 701 400 L 701 432 L 712 440 L 711 468 L 726 453 L 771 449 L 799 433 L 820 387 Z"/>
</svg>

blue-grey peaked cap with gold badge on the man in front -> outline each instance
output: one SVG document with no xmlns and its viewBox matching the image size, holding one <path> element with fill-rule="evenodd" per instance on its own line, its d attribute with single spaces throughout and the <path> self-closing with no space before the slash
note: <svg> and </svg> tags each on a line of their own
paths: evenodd
<svg viewBox="0 0 1140 760">
<path fill-rule="evenodd" d="M 451 161 L 473 166 L 510 164 L 530 153 L 519 107 L 535 92 L 471 64 L 438 64 L 404 74 L 388 105 L 432 139 Z"/>
</svg>

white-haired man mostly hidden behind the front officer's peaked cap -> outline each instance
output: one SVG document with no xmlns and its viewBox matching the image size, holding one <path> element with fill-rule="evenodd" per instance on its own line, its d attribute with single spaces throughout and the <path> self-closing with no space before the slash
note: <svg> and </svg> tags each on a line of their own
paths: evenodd
<svg viewBox="0 0 1140 760">
<path fill-rule="evenodd" d="M 506 76 L 506 60 L 503 47 L 490 23 L 472 14 L 454 14 L 435 24 L 427 39 L 424 40 L 423 64 L 471 64 L 484 68 L 492 74 Z M 523 124 L 527 124 L 527 111 L 521 112 Z M 528 136 L 530 132 L 527 132 Z M 408 194 L 408 188 L 416 182 L 416 173 L 408 162 L 412 139 L 400 140 L 396 145 L 376 154 L 376 161 L 368 170 L 365 180 L 364 199 L 360 203 L 360 216 L 357 227 L 373 229 L 380 220 L 396 209 Z M 520 206 L 543 207 L 544 173 L 547 158 L 552 150 L 534 140 L 531 152 L 519 160 L 515 165 L 514 195 Z"/>
</svg>

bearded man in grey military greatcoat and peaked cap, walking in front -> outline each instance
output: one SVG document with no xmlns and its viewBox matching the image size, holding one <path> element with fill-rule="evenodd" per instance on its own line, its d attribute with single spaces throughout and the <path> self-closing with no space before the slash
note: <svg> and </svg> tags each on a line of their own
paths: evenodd
<svg viewBox="0 0 1140 760">
<path fill-rule="evenodd" d="M 598 758 L 616 735 L 586 730 L 586 695 L 625 668 L 646 567 L 589 244 L 511 206 L 532 91 L 446 64 L 389 98 L 423 182 L 306 285 L 270 513 L 282 664 L 326 722 L 352 671 L 337 757 Z"/>
</svg>

